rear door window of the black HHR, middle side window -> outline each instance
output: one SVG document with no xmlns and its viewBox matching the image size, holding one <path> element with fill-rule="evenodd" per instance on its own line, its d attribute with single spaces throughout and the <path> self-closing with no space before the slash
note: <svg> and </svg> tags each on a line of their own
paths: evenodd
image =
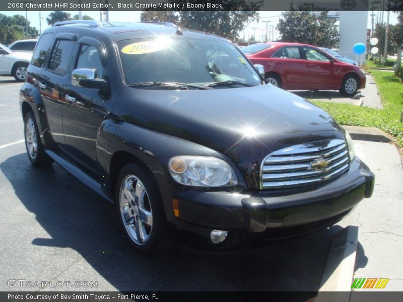
<svg viewBox="0 0 403 302">
<path fill-rule="evenodd" d="M 73 47 L 74 41 L 56 40 L 52 54 L 50 55 L 48 69 L 59 75 L 66 74 Z"/>
</svg>

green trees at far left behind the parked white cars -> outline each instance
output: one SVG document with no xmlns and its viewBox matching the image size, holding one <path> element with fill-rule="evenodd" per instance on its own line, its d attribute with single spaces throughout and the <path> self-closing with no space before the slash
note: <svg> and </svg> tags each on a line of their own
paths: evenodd
<svg viewBox="0 0 403 302">
<path fill-rule="evenodd" d="M 3 44 L 11 44 L 14 41 L 23 38 L 36 38 L 38 30 L 30 26 L 28 21 L 28 37 L 25 34 L 25 17 L 21 15 L 14 15 L 8 17 L 0 14 L 0 42 Z"/>
</svg>

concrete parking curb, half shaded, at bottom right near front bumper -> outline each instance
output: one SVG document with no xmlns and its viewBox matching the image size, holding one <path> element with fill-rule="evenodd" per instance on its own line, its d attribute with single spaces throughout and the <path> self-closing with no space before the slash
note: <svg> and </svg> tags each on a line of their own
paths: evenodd
<svg viewBox="0 0 403 302">
<path fill-rule="evenodd" d="M 349 225 L 334 235 L 316 302 L 350 300 L 357 242 L 358 226 Z"/>
</svg>

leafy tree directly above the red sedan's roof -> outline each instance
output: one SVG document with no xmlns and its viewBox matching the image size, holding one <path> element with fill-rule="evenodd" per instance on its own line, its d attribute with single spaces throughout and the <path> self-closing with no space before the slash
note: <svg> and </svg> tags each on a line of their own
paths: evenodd
<svg viewBox="0 0 403 302">
<path fill-rule="evenodd" d="M 277 28 L 282 41 L 334 47 L 339 42 L 336 21 L 322 12 L 318 17 L 310 12 L 289 11 L 282 13 Z"/>
</svg>

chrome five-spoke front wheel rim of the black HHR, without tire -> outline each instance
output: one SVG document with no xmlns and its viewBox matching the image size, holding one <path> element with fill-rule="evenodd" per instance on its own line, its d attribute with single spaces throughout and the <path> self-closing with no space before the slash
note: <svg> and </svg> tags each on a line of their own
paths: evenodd
<svg viewBox="0 0 403 302">
<path fill-rule="evenodd" d="M 146 188 L 140 179 L 127 175 L 120 186 L 120 214 L 130 239 L 145 245 L 153 230 L 153 213 Z"/>
</svg>

